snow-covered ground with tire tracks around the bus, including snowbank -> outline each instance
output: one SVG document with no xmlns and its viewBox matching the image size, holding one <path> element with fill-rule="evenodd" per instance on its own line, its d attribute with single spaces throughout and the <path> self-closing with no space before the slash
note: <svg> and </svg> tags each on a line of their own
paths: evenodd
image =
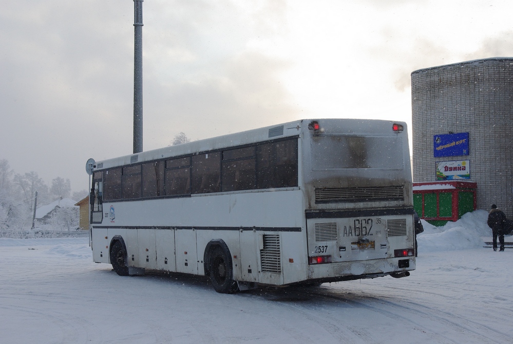
<svg viewBox="0 0 513 344">
<path fill-rule="evenodd" d="M 486 216 L 423 222 L 407 278 L 236 295 L 203 277 L 120 277 L 84 238 L 0 239 L 0 342 L 513 343 L 513 249 L 483 247 Z"/>
</svg>

